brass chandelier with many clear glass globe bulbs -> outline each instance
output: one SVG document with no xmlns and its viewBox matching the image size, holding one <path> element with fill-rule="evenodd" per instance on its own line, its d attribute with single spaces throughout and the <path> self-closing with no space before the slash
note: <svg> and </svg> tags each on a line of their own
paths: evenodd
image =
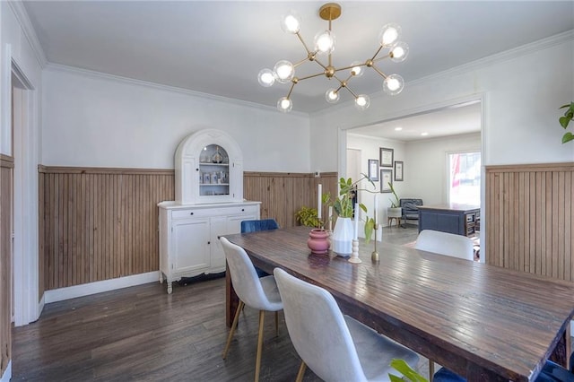
<svg viewBox="0 0 574 382">
<path fill-rule="evenodd" d="M 385 25 L 380 33 L 378 34 L 378 49 L 375 54 L 365 61 L 355 61 L 349 66 L 336 68 L 333 65 L 332 53 L 335 49 L 335 35 L 331 30 L 331 22 L 336 20 L 341 15 L 341 5 L 335 3 L 327 3 L 319 8 L 319 17 L 323 20 L 329 22 L 329 29 L 323 30 L 317 33 L 314 39 L 314 48 L 310 50 L 300 35 L 300 18 L 297 13 L 291 11 L 287 15 L 283 16 L 281 22 L 281 27 L 285 32 L 292 33 L 296 35 L 303 48 L 307 51 L 307 56 L 301 59 L 295 64 L 291 64 L 290 61 L 281 60 L 274 65 L 273 70 L 263 69 L 259 72 L 258 81 L 262 86 L 269 87 L 274 84 L 274 82 L 289 83 L 291 82 L 291 89 L 287 93 L 287 96 L 283 97 L 277 102 L 277 109 L 283 112 L 291 111 L 293 107 L 293 102 L 291 101 L 291 93 L 296 84 L 303 80 L 309 78 L 317 77 L 319 75 L 325 75 L 327 79 L 335 79 L 338 82 L 338 87 L 328 89 L 325 93 L 326 101 L 329 103 L 335 103 L 340 99 L 340 92 L 344 88 L 352 94 L 355 99 L 355 106 L 357 109 L 364 110 L 369 108 L 370 98 L 366 94 L 356 94 L 349 88 L 349 81 L 352 77 L 360 77 L 364 72 L 365 68 L 372 68 L 377 74 L 383 77 L 383 91 L 390 95 L 396 95 L 403 90 L 404 80 L 398 74 L 387 75 L 378 69 L 375 64 L 384 58 L 389 57 L 394 62 L 402 62 L 408 56 L 409 47 L 406 43 L 398 41 L 401 33 L 401 28 L 390 23 Z M 388 49 L 386 56 L 378 57 L 378 54 L 384 48 Z M 327 55 L 327 65 L 323 64 L 318 59 L 318 55 Z M 323 70 L 317 74 L 307 75 L 305 77 L 296 77 L 295 68 L 305 62 L 315 62 L 317 65 L 321 66 Z M 348 76 L 341 79 L 337 76 L 338 72 L 349 71 Z"/>
</svg>

